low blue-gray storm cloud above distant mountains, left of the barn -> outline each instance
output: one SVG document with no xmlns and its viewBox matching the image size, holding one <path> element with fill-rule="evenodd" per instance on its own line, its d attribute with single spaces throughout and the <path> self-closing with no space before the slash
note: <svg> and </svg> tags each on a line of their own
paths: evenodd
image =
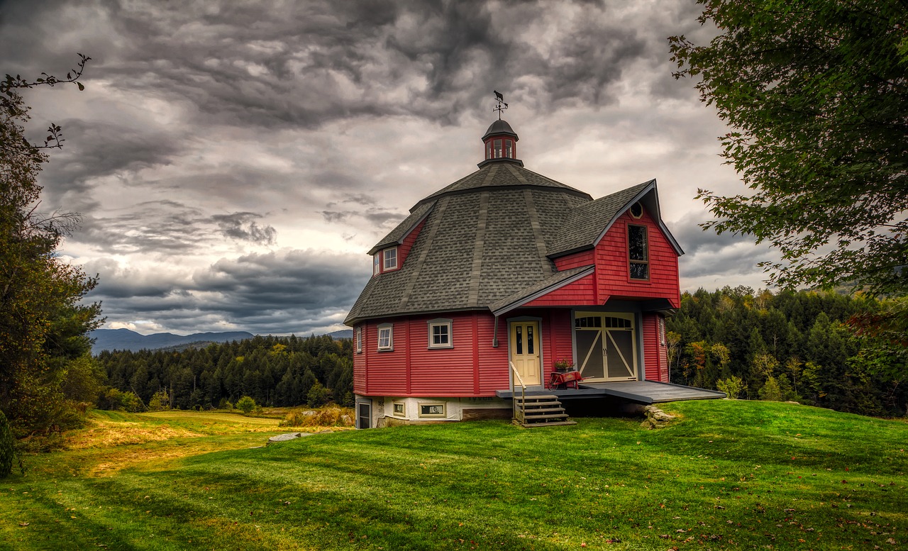
<svg viewBox="0 0 908 551">
<path fill-rule="evenodd" d="M 173 330 L 219 330 L 217 321 L 253 333 L 305 334 L 343 319 L 369 279 L 363 255 L 316 251 L 251 254 L 222 259 L 188 280 L 117 269 L 105 271 L 89 300 L 104 301 L 108 321 L 153 318 Z"/>
</svg>

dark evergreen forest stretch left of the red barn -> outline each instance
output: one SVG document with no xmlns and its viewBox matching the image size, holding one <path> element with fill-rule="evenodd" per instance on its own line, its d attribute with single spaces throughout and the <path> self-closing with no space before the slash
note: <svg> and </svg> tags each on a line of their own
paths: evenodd
<svg viewBox="0 0 908 551">
<path fill-rule="evenodd" d="M 255 337 L 183 350 L 103 351 L 109 389 L 101 408 L 231 408 L 248 396 L 264 406 L 353 405 L 350 339 Z M 133 403 L 132 397 L 138 398 Z"/>
</svg>

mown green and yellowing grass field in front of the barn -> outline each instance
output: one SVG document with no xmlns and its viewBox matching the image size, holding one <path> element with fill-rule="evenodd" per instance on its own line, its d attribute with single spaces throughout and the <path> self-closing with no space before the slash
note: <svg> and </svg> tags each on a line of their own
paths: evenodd
<svg viewBox="0 0 908 551">
<path fill-rule="evenodd" d="M 908 548 L 903 420 L 773 402 L 664 408 L 681 418 L 653 431 L 629 418 L 489 421 L 267 448 L 251 447 L 288 431 L 276 420 L 104 412 L 118 436 L 85 431 L 0 480 L 0 546 Z M 133 431 L 145 437 L 126 443 Z"/>
</svg>

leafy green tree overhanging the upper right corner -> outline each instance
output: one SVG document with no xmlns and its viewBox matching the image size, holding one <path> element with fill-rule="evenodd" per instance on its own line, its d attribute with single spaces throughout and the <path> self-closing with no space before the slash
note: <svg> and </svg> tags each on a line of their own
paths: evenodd
<svg viewBox="0 0 908 551">
<path fill-rule="evenodd" d="M 704 224 L 766 241 L 781 287 L 908 292 L 908 6 L 899 0 L 698 0 L 707 45 L 672 36 L 676 77 L 731 127 L 746 194 L 701 190 Z"/>
</svg>

